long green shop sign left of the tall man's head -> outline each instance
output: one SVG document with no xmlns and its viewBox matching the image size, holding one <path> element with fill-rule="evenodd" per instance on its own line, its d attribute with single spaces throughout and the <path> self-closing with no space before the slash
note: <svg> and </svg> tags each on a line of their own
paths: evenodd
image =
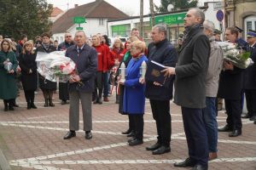
<svg viewBox="0 0 256 170">
<path fill-rule="evenodd" d="M 155 24 L 165 23 L 167 25 L 183 24 L 186 14 L 187 13 L 179 13 L 179 14 L 155 16 L 154 23 Z"/>
</svg>

